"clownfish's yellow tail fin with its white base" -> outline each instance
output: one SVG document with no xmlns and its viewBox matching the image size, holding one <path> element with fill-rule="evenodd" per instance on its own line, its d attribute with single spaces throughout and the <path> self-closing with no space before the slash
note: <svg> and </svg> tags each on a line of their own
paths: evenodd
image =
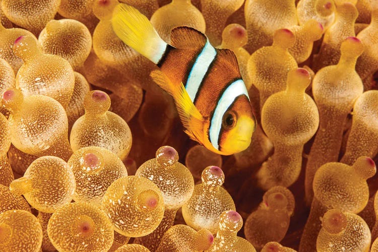
<svg viewBox="0 0 378 252">
<path fill-rule="evenodd" d="M 157 64 L 167 43 L 162 40 L 150 21 L 137 9 L 119 4 L 112 19 L 115 34 L 127 45 Z"/>
</svg>

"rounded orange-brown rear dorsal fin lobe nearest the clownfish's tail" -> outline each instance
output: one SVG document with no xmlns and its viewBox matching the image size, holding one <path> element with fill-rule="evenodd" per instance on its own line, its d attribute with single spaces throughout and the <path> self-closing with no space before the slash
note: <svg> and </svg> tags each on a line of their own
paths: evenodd
<svg viewBox="0 0 378 252">
<path fill-rule="evenodd" d="M 178 26 L 171 31 L 171 45 L 180 49 L 197 50 L 205 46 L 206 36 L 196 29 Z"/>
</svg>

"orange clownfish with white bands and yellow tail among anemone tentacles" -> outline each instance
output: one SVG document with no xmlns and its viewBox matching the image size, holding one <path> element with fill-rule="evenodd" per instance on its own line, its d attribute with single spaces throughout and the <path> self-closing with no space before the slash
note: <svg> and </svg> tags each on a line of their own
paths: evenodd
<svg viewBox="0 0 378 252">
<path fill-rule="evenodd" d="M 174 28 L 167 44 L 144 15 L 125 4 L 115 8 L 112 26 L 125 44 L 160 68 L 150 76 L 173 96 L 191 139 L 221 155 L 249 146 L 256 120 L 232 51 L 215 49 L 190 27 Z"/>
</svg>

